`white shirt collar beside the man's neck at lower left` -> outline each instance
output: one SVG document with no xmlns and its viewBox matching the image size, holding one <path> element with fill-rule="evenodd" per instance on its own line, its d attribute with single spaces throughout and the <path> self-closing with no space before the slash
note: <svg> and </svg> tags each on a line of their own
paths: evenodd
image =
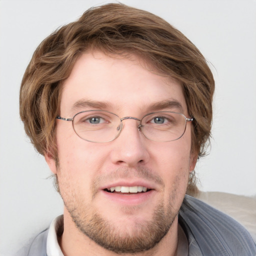
<svg viewBox="0 0 256 256">
<path fill-rule="evenodd" d="M 62 226 L 62 228 L 60 228 Z M 46 243 L 46 254 L 47 256 L 64 256 L 62 253 L 57 239 L 58 230 L 63 230 L 63 215 L 55 217 L 49 227 Z"/>
</svg>

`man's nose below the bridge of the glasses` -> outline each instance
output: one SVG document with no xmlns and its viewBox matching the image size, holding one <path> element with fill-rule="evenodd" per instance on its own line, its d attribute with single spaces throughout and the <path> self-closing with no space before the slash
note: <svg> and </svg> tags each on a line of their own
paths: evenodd
<svg viewBox="0 0 256 256">
<path fill-rule="evenodd" d="M 110 158 L 113 163 L 126 167 L 136 167 L 137 164 L 143 165 L 148 161 L 147 144 L 149 140 L 139 131 L 138 121 L 137 118 L 122 118 L 120 135 L 111 141 L 113 146 Z"/>
</svg>

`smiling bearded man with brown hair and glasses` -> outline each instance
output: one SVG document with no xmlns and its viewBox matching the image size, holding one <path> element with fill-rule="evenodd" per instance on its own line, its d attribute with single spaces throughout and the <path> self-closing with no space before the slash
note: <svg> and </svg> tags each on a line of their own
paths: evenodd
<svg viewBox="0 0 256 256">
<path fill-rule="evenodd" d="M 185 195 L 213 91 L 199 50 L 146 11 L 91 8 L 42 41 L 20 116 L 64 212 L 27 255 L 255 255 L 242 226 Z"/>
</svg>

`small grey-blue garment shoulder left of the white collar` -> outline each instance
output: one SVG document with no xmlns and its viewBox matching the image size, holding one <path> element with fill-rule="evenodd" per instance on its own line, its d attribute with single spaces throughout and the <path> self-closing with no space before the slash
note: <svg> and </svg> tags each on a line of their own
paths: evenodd
<svg viewBox="0 0 256 256">
<path fill-rule="evenodd" d="M 14 256 L 46 256 L 47 235 L 48 229 L 41 231 Z"/>
</svg>

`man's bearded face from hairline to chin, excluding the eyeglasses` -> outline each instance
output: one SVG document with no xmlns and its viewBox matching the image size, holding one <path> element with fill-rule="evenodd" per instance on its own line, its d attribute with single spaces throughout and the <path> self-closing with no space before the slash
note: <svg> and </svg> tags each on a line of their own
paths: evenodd
<svg viewBox="0 0 256 256">
<path fill-rule="evenodd" d="M 180 84 L 141 63 L 136 56 L 84 53 L 64 82 L 60 116 L 101 109 L 120 118 L 141 119 L 154 111 L 189 117 Z M 170 232 L 194 168 L 189 122 L 179 139 L 156 142 L 138 130 L 137 120 L 125 119 L 120 135 L 104 143 L 83 140 L 71 121 L 56 122 L 59 164 L 45 158 L 57 174 L 64 219 L 75 223 L 81 235 L 118 253 L 152 248 Z M 109 191 L 111 187 L 117 191 Z M 146 192 L 136 192 L 141 187 Z"/>
</svg>

